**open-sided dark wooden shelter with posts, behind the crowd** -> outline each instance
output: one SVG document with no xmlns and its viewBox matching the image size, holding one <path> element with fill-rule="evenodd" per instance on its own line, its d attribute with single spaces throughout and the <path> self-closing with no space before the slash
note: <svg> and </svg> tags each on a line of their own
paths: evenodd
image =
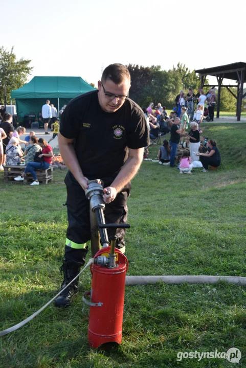
<svg viewBox="0 0 246 368">
<path fill-rule="evenodd" d="M 200 74 L 201 77 L 201 87 L 218 87 L 218 96 L 217 96 L 217 115 L 219 118 L 219 108 L 220 108 L 220 90 L 221 87 L 226 87 L 229 92 L 236 98 L 237 100 L 237 109 L 236 116 L 237 121 L 240 121 L 241 118 L 241 108 L 242 108 L 242 99 L 246 96 L 246 93 L 243 94 L 243 83 L 246 82 L 246 63 L 237 62 L 233 64 L 214 66 L 211 68 L 204 68 L 195 71 Z M 218 84 L 204 84 L 207 76 L 215 76 L 217 78 Z M 236 81 L 236 85 L 222 85 L 223 79 L 232 79 Z M 230 87 L 237 87 L 237 96 L 231 91 Z"/>
</svg>

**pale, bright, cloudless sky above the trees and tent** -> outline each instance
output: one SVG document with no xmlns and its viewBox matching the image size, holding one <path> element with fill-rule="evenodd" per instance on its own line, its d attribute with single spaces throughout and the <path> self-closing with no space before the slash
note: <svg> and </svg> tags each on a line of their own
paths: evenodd
<svg viewBox="0 0 246 368">
<path fill-rule="evenodd" d="M 245 15 L 245 0 L 8 0 L 0 46 L 31 60 L 29 80 L 80 76 L 97 85 L 115 62 L 163 70 L 246 62 Z"/>
</svg>

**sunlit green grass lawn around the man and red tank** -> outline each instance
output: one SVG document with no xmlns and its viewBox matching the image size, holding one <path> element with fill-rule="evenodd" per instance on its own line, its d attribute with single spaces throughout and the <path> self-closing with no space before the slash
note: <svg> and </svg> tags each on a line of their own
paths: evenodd
<svg viewBox="0 0 246 368">
<path fill-rule="evenodd" d="M 128 199 L 129 275 L 245 276 L 246 124 L 210 124 L 222 165 L 179 175 L 144 161 Z M 158 147 L 150 148 L 155 157 Z M 19 323 L 58 291 L 66 210 L 64 172 L 54 182 L 1 186 L 0 330 Z M 90 273 L 80 278 L 90 290 Z M 233 367 L 225 359 L 183 359 L 177 352 L 237 347 L 245 367 L 246 288 L 217 285 L 126 287 L 123 341 L 112 351 L 88 347 L 81 293 L 71 308 L 49 306 L 0 340 L 1 368 Z"/>
</svg>

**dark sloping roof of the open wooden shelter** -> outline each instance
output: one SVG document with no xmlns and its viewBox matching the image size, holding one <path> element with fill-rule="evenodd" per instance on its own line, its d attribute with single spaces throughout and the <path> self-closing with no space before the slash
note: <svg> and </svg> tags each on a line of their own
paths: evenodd
<svg viewBox="0 0 246 368">
<path fill-rule="evenodd" d="M 245 70 L 246 71 L 246 63 L 244 62 L 236 62 L 233 64 L 214 66 L 210 68 L 198 69 L 195 72 L 200 75 L 210 75 L 216 76 L 223 74 L 223 77 L 226 79 L 238 80 L 240 79 L 238 76 L 238 72 Z M 244 82 L 246 82 L 246 73 L 244 74 Z"/>
</svg>

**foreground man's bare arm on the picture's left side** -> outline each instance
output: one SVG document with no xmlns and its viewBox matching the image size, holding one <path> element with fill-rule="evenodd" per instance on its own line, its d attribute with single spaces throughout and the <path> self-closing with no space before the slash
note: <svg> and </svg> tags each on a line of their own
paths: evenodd
<svg viewBox="0 0 246 368">
<path fill-rule="evenodd" d="M 83 175 L 81 167 L 79 166 L 73 141 L 73 139 L 65 138 L 61 133 L 58 134 L 58 145 L 63 161 L 66 164 L 66 167 L 68 167 L 68 169 L 74 175 L 78 183 L 81 185 L 83 190 L 85 190 L 88 188 L 88 179 Z"/>
</svg>

